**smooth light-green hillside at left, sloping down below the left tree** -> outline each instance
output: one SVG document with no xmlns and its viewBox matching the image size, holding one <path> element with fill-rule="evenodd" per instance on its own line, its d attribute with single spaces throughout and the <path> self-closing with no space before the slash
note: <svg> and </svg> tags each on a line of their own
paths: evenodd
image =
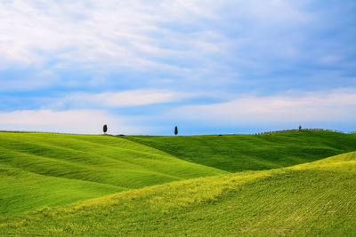
<svg viewBox="0 0 356 237">
<path fill-rule="evenodd" d="M 226 173 L 111 136 L 0 132 L 0 216 Z"/>
</svg>

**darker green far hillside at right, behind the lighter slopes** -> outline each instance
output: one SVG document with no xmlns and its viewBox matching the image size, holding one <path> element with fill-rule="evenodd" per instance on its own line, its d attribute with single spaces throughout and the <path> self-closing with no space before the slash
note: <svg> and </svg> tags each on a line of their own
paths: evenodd
<svg viewBox="0 0 356 237">
<path fill-rule="evenodd" d="M 230 172 L 281 168 L 356 150 L 356 134 L 312 130 L 271 135 L 125 138 L 190 162 Z"/>
</svg>

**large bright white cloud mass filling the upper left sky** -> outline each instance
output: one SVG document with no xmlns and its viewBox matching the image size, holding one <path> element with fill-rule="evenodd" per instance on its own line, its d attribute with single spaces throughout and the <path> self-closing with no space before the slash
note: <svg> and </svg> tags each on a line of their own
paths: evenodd
<svg viewBox="0 0 356 237">
<path fill-rule="evenodd" d="M 235 9 L 236 19 L 224 19 L 220 11 L 224 8 Z M 298 7 L 284 1 L 213 0 L 2 1 L 0 19 L 2 67 L 13 63 L 41 65 L 48 59 L 61 59 L 58 67 L 85 62 L 105 68 L 170 70 L 172 66 L 152 56 L 205 60 L 209 53 L 229 53 L 236 39 L 211 28 L 210 22 L 235 31 L 234 26 L 240 24 L 236 20 L 248 19 L 253 26 L 251 32 L 255 32 L 259 25 L 255 20 L 263 22 L 259 30 L 267 22 L 275 26 L 277 21 L 308 20 Z M 181 31 L 180 27 L 191 29 Z M 262 41 L 260 36 L 252 40 Z"/>
</svg>

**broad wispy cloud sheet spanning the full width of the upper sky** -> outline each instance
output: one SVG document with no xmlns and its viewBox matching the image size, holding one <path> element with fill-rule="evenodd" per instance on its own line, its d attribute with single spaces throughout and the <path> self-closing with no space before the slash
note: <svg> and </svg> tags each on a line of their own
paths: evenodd
<svg viewBox="0 0 356 237">
<path fill-rule="evenodd" d="M 323 5 L 316 11 L 311 3 L 292 1 L 3 1 L 0 70 L 60 74 L 75 68 L 94 77 L 129 68 L 127 76 L 153 77 L 136 76 L 141 82 L 166 75 L 175 85 L 214 88 L 300 67 L 351 67 L 344 60 L 355 48 L 343 45 L 356 32 L 345 35 L 330 24 L 335 6 Z M 337 6 L 339 12 L 352 7 Z M 337 16 L 345 28 L 352 24 L 347 14 Z"/>
</svg>

